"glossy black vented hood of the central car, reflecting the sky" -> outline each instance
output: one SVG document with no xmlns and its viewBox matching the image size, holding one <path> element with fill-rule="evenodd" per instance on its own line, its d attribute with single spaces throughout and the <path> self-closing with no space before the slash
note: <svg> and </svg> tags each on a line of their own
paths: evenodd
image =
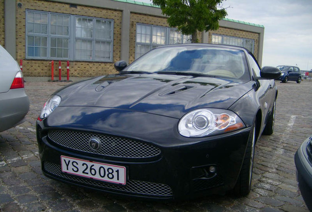
<svg viewBox="0 0 312 212">
<path fill-rule="evenodd" d="M 54 94 L 59 106 L 95 106 L 181 118 L 197 108 L 227 109 L 255 82 L 160 74 L 107 75 L 78 82 Z"/>
</svg>

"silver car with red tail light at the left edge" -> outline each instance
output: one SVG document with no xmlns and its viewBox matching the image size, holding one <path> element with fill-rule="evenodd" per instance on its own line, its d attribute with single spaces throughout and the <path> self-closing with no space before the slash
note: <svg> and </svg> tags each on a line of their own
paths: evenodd
<svg viewBox="0 0 312 212">
<path fill-rule="evenodd" d="M 0 132 L 23 123 L 28 109 L 23 73 L 14 58 L 0 45 Z"/>
</svg>

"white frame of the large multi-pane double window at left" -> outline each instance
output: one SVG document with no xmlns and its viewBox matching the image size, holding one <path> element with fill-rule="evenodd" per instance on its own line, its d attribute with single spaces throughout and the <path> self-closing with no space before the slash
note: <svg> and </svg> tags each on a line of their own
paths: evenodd
<svg viewBox="0 0 312 212">
<path fill-rule="evenodd" d="M 47 33 L 27 32 L 28 31 L 28 25 L 31 24 L 31 23 L 28 23 L 28 12 L 48 15 Z M 51 33 L 51 27 L 52 27 L 52 23 L 51 23 L 52 18 L 51 17 L 52 17 L 52 15 L 69 17 L 68 35 L 67 34 L 64 35 L 64 33 L 62 33 L 62 34 L 60 34 L 60 33 L 59 34 L 57 34 L 57 33 L 52 34 Z M 92 38 L 76 37 L 76 18 L 79 18 L 79 17 L 84 18 L 84 19 L 88 19 L 88 20 L 93 20 L 94 25 L 92 28 Z M 108 31 L 108 34 L 110 33 L 108 38 L 95 36 L 96 30 L 98 30 L 97 32 L 99 32 L 99 30 L 100 30 L 100 29 L 95 27 L 96 21 L 101 21 L 101 24 L 102 23 L 110 23 L 110 29 L 104 30 L 104 31 Z M 57 24 L 56 25 L 54 24 L 53 26 L 57 27 Z M 66 27 L 66 26 L 62 26 L 62 25 L 59 25 L 59 26 L 60 27 Z M 35 46 L 29 46 L 28 45 L 28 37 L 29 37 L 29 39 L 31 37 L 40 38 L 40 40 L 43 37 L 47 39 L 47 46 L 46 47 L 41 47 L 41 46 L 36 47 L 36 48 L 46 48 L 46 51 L 47 51 L 47 53 L 45 54 L 46 56 L 42 56 L 44 54 L 40 54 L 39 56 L 35 56 L 35 52 L 33 55 L 28 56 L 28 47 L 35 48 Z M 61 47 L 55 48 L 55 51 L 58 51 L 58 49 L 59 49 L 59 51 L 62 51 L 62 57 L 57 57 L 57 53 L 56 53 L 56 57 L 53 57 L 53 55 L 51 55 L 51 50 L 52 50 L 52 48 L 54 48 L 51 46 L 51 40 L 54 38 L 56 40 L 58 39 L 58 41 L 62 41 L 62 42 L 64 41 L 64 39 L 68 39 L 68 48 L 66 46 L 64 46 L 63 43 L 62 43 Z M 78 40 L 78 39 L 83 39 L 83 40 L 87 39 L 87 40 L 90 40 L 92 42 L 92 47 L 91 47 L 92 57 L 91 58 L 88 58 L 88 59 L 85 59 L 85 58 L 84 59 L 79 59 L 79 58 L 77 59 L 76 58 L 76 52 L 77 51 L 75 51 L 75 43 L 76 43 L 76 40 Z M 37 11 L 37 10 L 28 10 L 28 9 L 26 10 L 26 59 L 112 62 L 113 61 L 113 45 L 114 45 L 113 41 L 114 41 L 114 20 L 113 19 L 102 19 L 102 18 L 95 18 L 95 17 L 78 16 L 78 15 L 45 12 L 45 11 Z M 110 47 L 106 48 L 104 50 L 103 50 L 103 48 L 101 49 L 101 47 L 100 48 L 96 47 L 96 44 L 99 44 L 99 42 L 101 44 L 103 44 L 103 46 L 108 44 L 108 46 L 110 46 Z M 30 50 L 30 48 L 29 48 L 29 50 Z M 64 51 L 65 51 L 65 53 L 66 53 L 66 51 L 68 52 L 67 57 L 63 56 Z M 101 56 L 101 54 L 104 56 Z"/>
</svg>

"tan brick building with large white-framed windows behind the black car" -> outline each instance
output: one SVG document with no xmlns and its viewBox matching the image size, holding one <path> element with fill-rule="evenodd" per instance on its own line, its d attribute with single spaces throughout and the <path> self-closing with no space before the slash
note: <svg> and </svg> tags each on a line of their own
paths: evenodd
<svg viewBox="0 0 312 212">
<path fill-rule="evenodd" d="M 261 64 L 264 27 L 224 19 L 215 31 L 199 33 L 202 43 L 244 46 Z M 115 73 L 113 63 L 132 62 L 161 45 L 188 43 L 170 28 L 160 8 L 132 0 L 0 0 L 0 44 L 23 59 L 24 76 L 58 73 L 72 77 Z"/>
</svg>

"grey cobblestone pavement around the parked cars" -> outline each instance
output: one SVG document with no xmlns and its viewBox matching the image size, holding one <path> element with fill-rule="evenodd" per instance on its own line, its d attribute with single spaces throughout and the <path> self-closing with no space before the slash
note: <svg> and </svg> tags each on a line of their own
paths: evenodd
<svg viewBox="0 0 312 212">
<path fill-rule="evenodd" d="M 43 176 L 35 120 L 55 90 L 68 82 L 25 83 L 26 122 L 0 132 L 0 212 L 305 212 L 294 153 L 312 134 L 312 82 L 280 83 L 275 131 L 256 146 L 252 191 L 247 197 L 208 196 L 186 202 L 149 202 L 65 185 Z"/>
</svg>

